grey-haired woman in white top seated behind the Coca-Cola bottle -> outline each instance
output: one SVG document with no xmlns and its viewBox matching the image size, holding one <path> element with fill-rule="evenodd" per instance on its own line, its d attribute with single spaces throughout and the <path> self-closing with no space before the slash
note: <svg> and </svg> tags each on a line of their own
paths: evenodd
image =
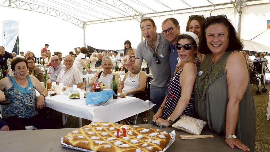
<svg viewBox="0 0 270 152">
<path fill-rule="evenodd" d="M 113 75 L 115 75 L 115 81 L 117 82 L 117 84 L 119 83 L 119 81 L 118 81 L 119 74 L 111 70 L 111 68 L 113 67 L 113 62 L 112 62 L 112 60 L 109 57 L 104 57 L 102 59 L 101 66 L 103 68 L 103 71 L 99 71 L 99 72 L 95 73 L 95 76 L 89 82 L 89 84 L 83 85 L 81 87 L 81 89 L 85 89 L 85 87 L 89 87 L 89 86 L 91 87 L 91 86 L 93 86 L 96 76 L 98 76 L 98 79 L 99 79 L 100 83 L 104 84 L 105 78 L 106 78 L 106 76 L 107 76 L 108 73 L 110 73 L 110 76 L 111 77 L 113 77 Z M 94 91 L 94 87 L 92 87 L 90 91 L 93 92 Z"/>
</svg>

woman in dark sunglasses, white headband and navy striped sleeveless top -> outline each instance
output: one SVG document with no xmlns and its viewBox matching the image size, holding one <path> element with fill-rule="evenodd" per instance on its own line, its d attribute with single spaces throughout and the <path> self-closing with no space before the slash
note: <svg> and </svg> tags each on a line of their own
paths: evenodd
<svg viewBox="0 0 270 152">
<path fill-rule="evenodd" d="M 195 57 L 199 38 L 192 32 L 183 32 L 176 41 L 182 67 L 169 81 L 168 95 L 153 116 L 153 121 L 162 126 L 172 125 L 181 115 L 194 116 L 194 83 L 199 69 Z"/>
</svg>

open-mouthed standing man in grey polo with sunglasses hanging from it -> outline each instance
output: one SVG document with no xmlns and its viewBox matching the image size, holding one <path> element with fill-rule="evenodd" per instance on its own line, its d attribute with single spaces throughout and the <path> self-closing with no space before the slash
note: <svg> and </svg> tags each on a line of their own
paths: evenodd
<svg viewBox="0 0 270 152">
<path fill-rule="evenodd" d="M 137 74 L 141 71 L 143 60 L 147 62 L 153 78 L 150 87 L 150 98 L 151 102 L 156 104 L 152 110 L 156 113 L 168 93 L 168 81 L 171 78 L 169 64 L 170 42 L 162 33 L 156 33 L 156 25 L 151 18 L 144 18 L 140 27 L 145 40 L 137 46 L 135 64 L 132 67 L 131 60 L 129 60 L 124 65 L 126 65 L 127 70 Z"/>
</svg>

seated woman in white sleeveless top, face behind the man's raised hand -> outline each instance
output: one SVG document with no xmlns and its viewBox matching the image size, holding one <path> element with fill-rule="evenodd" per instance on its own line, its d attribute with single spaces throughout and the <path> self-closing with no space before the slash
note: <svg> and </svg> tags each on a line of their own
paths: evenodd
<svg viewBox="0 0 270 152">
<path fill-rule="evenodd" d="M 132 66 L 135 64 L 135 57 L 132 58 Z M 118 93 L 122 92 L 128 96 L 133 96 L 133 92 L 144 91 L 146 84 L 146 74 L 144 71 L 138 74 L 133 74 L 130 71 L 125 74 L 125 77 L 118 88 Z"/>
</svg>

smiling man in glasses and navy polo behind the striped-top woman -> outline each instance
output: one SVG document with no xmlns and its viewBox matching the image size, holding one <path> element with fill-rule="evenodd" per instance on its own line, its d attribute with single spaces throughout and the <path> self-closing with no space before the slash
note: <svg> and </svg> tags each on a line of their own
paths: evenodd
<svg viewBox="0 0 270 152">
<path fill-rule="evenodd" d="M 164 20 L 161 24 L 162 28 L 162 34 L 165 36 L 165 38 L 170 41 L 170 67 L 171 67 L 171 77 L 173 77 L 173 73 L 175 71 L 175 67 L 178 63 L 178 53 L 177 49 L 175 48 L 175 44 L 177 43 L 176 38 L 180 34 L 180 26 L 179 22 L 175 18 L 167 18 Z"/>
</svg>

